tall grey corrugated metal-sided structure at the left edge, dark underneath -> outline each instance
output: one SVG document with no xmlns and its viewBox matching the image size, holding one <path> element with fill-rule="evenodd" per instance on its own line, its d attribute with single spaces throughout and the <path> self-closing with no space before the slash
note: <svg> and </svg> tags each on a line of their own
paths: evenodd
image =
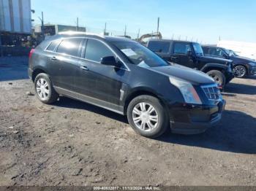
<svg viewBox="0 0 256 191">
<path fill-rule="evenodd" d="M 31 0 L 0 0 L 0 55 L 12 55 L 13 47 L 26 46 L 29 35 Z"/>
</svg>

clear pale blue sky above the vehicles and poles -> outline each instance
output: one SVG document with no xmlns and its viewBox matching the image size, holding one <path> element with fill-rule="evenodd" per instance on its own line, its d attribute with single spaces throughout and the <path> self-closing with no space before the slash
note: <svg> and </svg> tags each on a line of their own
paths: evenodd
<svg viewBox="0 0 256 191">
<path fill-rule="evenodd" d="M 124 32 L 135 36 L 159 31 L 165 38 L 216 44 L 220 39 L 256 42 L 255 0 L 31 0 L 34 24 L 86 26 L 92 32 Z M 120 35 L 120 34 L 119 34 Z"/>
</svg>

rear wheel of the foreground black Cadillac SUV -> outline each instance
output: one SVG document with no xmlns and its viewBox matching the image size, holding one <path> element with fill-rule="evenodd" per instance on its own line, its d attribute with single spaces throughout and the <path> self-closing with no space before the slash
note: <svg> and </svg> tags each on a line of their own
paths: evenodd
<svg viewBox="0 0 256 191">
<path fill-rule="evenodd" d="M 59 98 L 59 94 L 54 90 L 50 77 L 45 73 L 37 75 L 34 80 L 34 90 L 39 101 L 44 104 L 52 104 Z"/>
</svg>

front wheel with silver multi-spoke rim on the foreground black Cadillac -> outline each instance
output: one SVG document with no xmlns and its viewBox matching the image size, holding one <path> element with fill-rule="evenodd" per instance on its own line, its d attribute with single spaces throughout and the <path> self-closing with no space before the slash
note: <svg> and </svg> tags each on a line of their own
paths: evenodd
<svg viewBox="0 0 256 191">
<path fill-rule="evenodd" d="M 136 133 L 149 138 L 161 136 L 170 124 L 165 108 L 151 95 L 134 98 L 127 108 L 127 118 Z"/>
</svg>

